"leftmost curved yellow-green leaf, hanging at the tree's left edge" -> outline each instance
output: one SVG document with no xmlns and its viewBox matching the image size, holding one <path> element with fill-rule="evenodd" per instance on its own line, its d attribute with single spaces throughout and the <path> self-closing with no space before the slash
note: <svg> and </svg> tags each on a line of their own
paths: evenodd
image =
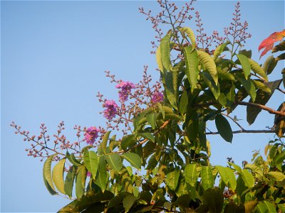
<svg viewBox="0 0 285 213">
<path fill-rule="evenodd" d="M 51 195 L 57 195 L 57 192 L 53 186 L 53 179 L 51 178 L 51 161 L 53 161 L 53 157 L 55 155 L 56 154 L 49 156 L 48 159 L 46 159 L 46 162 L 43 164 L 43 182 Z"/>
</svg>

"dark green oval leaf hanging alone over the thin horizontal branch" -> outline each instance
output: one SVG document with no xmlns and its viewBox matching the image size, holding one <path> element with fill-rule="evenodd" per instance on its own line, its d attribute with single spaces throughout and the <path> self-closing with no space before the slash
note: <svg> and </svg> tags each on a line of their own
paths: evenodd
<svg viewBox="0 0 285 213">
<path fill-rule="evenodd" d="M 224 138 L 224 141 L 232 143 L 232 127 L 229 125 L 229 121 L 227 121 L 224 116 L 221 114 L 217 114 L 216 119 L 214 120 L 217 126 L 217 130 L 219 134 Z"/>
</svg>

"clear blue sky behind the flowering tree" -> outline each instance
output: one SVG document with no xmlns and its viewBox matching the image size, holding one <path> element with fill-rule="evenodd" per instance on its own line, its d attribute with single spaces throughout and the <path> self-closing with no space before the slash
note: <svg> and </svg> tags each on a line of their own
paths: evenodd
<svg viewBox="0 0 285 213">
<path fill-rule="evenodd" d="M 194 6 L 211 33 L 229 26 L 235 3 L 198 1 Z M 118 99 L 104 70 L 138 82 L 143 65 L 149 65 L 158 78 L 150 55 L 155 33 L 138 13 L 139 6 L 158 9 L 155 1 L 1 1 L 1 212 L 56 212 L 70 202 L 48 193 L 43 163 L 26 156 L 24 149 L 30 145 L 14 135 L 11 121 L 36 135 L 44 122 L 51 136 L 65 121 L 66 135 L 73 141 L 74 125 L 104 125 L 98 91 Z M 284 1 L 242 1 L 241 11 L 253 35 L 246 48 L 259 60 L 261 40 L 284 29 Z M 195 28 L 194 20 L 185 26 Z M 280 73 L 281 65 L 269 79 L 280 79 Z M 276 93 L 268 106 L 277 109 L 283 100 Z M 246 120 L 245 110 L 240 107 L 234 114 Z M 273 125 L 273 116 L 263 112 L 256 123 L 243 122 L 247 129 L 264 129 Z M 239 134 L 230 144 L 220 136 L 209 137 L 212 163 L 225 165 L 228 156 L 237 164 L 249 161 L 252 151 L 263 152 L 270 138 L 272 134 Z"/>
</svg>

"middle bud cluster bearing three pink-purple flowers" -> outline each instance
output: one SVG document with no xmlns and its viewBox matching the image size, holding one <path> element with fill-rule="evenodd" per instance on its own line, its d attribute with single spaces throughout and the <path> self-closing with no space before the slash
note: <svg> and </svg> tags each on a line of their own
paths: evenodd
<svg viewBox="0 0 285 213">
<path fill-rule="evenodd" d="M 103 116 L 108 119 L 106 121 L 107 130 L 120 129 L 124 134 L 131 131 L 131 123 L 133 117 L 143 109 L 150 107 L 157 102 L 163 102 L 163 94 L 161 82 L 156 81 L 151 85 L 152 76 L 147 75 L 147 66 L 144 67 L 142 80 L 137 84 L 132 82 L 116 80 L 115 75 L 110 75 L 110 71 L 105 71 L 106 77 L 110 77 L 110 82 L 116 83 L 116 88 L 119 89 L 119 101 L 103 98 L 103 94 L 96 95 L 99 102 L 103 103 Z"/>
</svg>

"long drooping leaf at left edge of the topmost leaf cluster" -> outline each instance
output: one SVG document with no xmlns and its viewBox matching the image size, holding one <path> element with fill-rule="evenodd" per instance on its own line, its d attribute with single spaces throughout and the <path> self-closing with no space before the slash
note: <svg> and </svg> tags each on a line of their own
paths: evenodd
<svg viewBox="0 0 285 213">
<path fill-rule="evenodd" d="M 162 59 L 162 65 L 165 67 L 166 70 L 171 71 L 172 65 L 170 61 L 170 35 L 167 34 L 165 37 L 162 38 L 160 43 L 160 53 Z"/>
</svg>

